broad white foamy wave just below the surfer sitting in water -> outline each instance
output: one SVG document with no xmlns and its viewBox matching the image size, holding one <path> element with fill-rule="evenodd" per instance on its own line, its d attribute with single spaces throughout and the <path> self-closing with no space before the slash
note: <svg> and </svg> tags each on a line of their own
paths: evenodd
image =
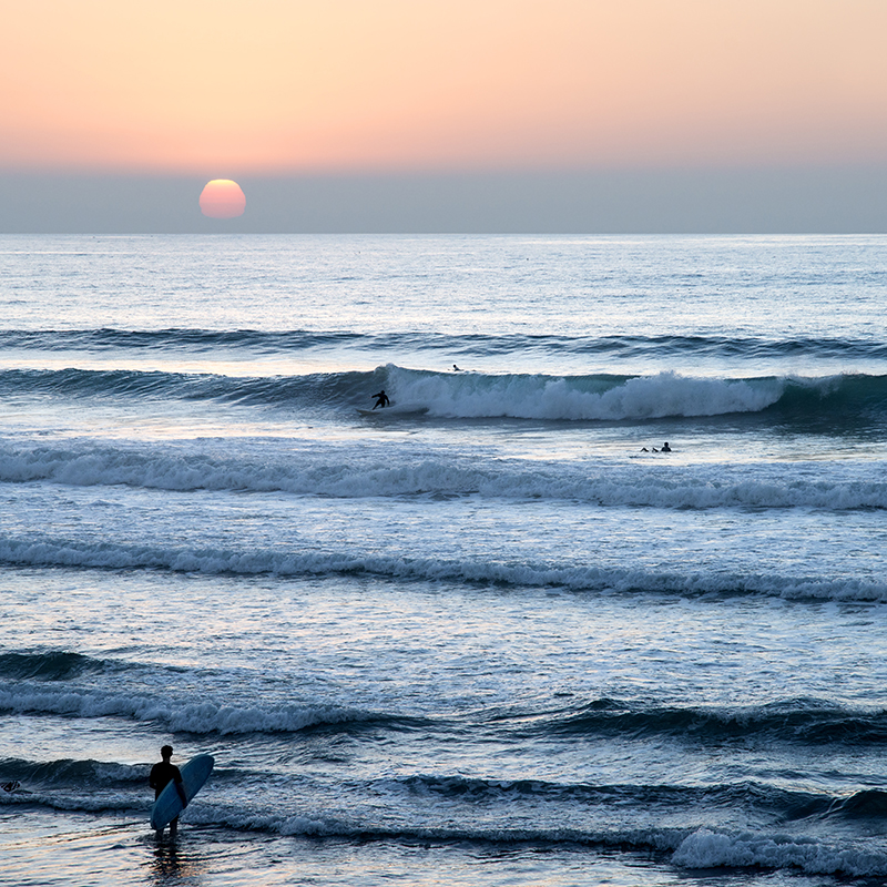
<svg viewBox="0 0 887 887">
<path fill-rule="evenodd" d="M 887 508 L 887 480 L 835 467 L 815 477 L 767 466 L 750 479 L 747 466 L 599 468 L 499 460 L 483 465 L 426 450 L 419 457 L 312 447 L 262 458 L 216 455 L 205 449 L 140 448 L 74 441 L 47 446 L 0 439 L 0 482 L 50 481 L 72 487 L 129 486 L 192 492 L 283 492 L 329 498 L 482 496 L 600 507 L 663 509 Z"/>
</svg>

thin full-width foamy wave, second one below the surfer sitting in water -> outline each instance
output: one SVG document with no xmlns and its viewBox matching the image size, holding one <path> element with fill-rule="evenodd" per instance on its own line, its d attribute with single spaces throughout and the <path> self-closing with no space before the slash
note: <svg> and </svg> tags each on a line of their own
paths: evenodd
<svg viewBox="0 0 887 887">
<path fill-rule="evenodd" d="M 408 581 L 459 582 L 571 591 L 665 593 L 683 597 L 765 595 L 794 600 L 887 602 L 887 583 L 818 577 L 667 573 L 544 563 L 408 559 L 341 552 L 231 551 L 52 538 L 0 537 L 0 563 L 99 570 L 166 570 L 208 575 L 367 575 Z"/>
</svg>

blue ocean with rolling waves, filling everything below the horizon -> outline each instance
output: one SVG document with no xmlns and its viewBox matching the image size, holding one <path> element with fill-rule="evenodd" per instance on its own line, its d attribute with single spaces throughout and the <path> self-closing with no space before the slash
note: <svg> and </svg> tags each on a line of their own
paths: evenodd
<svg viewBox="0 0 887 887">
<path fill-rule="evenodd" d="M 887 881 L 887 237 L 2 236 L 0 287 L 0 884 Z"/>
</svg>

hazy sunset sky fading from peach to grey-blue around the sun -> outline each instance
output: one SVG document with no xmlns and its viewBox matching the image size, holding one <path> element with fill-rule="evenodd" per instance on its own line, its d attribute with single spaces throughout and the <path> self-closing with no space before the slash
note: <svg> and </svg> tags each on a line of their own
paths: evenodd
<svg viewBox="0 0 887 887">
<path fill-rule="evenodd" d="M 2 232 L 887 231 L 887 0 L 0 11 Z"/>
</svg>

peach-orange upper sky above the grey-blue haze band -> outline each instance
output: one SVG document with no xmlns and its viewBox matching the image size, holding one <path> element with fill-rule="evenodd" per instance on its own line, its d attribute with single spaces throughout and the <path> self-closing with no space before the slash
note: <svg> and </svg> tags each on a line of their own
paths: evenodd
<svg viewBox="0 0 887 887">
<path fill-rule="evenodd" d="M 4 6 L 0 167 L 887 161 L 886 0 Z"/>
</svg>

